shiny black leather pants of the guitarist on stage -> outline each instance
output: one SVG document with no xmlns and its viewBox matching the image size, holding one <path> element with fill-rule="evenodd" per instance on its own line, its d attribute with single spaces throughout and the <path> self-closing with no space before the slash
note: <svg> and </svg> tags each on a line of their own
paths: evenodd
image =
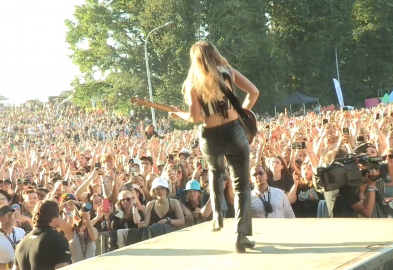
<svg viewBox="0 0 393 270">
<path fill-rule="evenodd" d="M 202 128 L 199 143 L 201 152 L 209 165 L 213 217 L 222 211 L 225 157 L 235 193 L 235 232 L 252 235 L 250 146 L 239 120 L 214 128 Z"/>
</svg>

